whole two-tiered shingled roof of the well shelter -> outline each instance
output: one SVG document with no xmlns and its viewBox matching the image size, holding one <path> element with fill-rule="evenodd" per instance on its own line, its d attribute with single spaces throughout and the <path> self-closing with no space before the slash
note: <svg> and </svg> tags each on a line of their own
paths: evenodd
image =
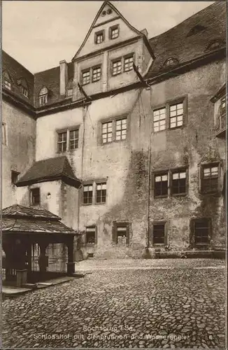
<svg viewBox="0 0 228 350">
<path fill-rule="evenodd" d="M 3 209 L 1 229 L 3 233 L 77 234 L 60 220 L 59 216 L 46 209 L 15 204 Z"/>
</svg>

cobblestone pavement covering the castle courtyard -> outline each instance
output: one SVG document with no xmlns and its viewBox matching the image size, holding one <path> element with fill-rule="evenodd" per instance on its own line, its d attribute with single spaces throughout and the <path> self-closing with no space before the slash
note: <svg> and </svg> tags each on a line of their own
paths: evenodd
<svg viewBox="0 0 228 350">
<path fill-rule="evenodd" d="M 3 348 L 225 349 L 225 268 L 188 263 L 97 270 L 7 299 Z"/>
</svg>

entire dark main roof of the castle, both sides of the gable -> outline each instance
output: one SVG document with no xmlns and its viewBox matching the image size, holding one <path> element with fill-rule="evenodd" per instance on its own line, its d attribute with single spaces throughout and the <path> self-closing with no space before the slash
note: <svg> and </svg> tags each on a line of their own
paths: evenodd
<svg viewBox="0 0 228 350">
<path fill-rule="evenodd" d="M 108 2 L 105 1 L 105 3 Z M 112 3 L 109 4 L 113 7 Z M 117 9 L 115 10 L 117 11 Z M 126 20 L 124 19 L 124 21 Z M 197 59 L 197 57 L 210 54 L 211 51 L 208 50 L 208 45 L 214 40 L 219 39 L 225 48 L 226 21 L 226 1 L 215 1 L 211 6 L 192 15 L 176 27 L 150 38 L 149 43 L 155 54 L 155 60 L 146 78 L 154 78 L 163 72 L 171 71 L 173 66 L 164 66 L 164 62 L 170 57 L 177 60 L 177 66 L 182 66 L 193 59 Z M 190 31 L 196 26 L 202 30 L 190 35 Z M 220 47 L 215 48 L 213 52 L 218 50 L 220 50 Z M 73 78 L 73 62 L 68 63 L 67 66 L 68 80 L 71 80 Z M 35 107 L 38 107 L 38 94 L 44 86 L 48 88 L 48 104 L 45 105 L 45 108 L 54 103 L 64 105 L 69 102 L 69 99 L 61 97 L 59 94 L 59 66 L 32 74 L 3 51 L 2 69 L 3 72 L 8 71 L 13 81 L 12 93 L 22 97 L 24 101 L 28 101 Z M 22 95 L 17 85 L 17 79 L 21 77 L 27 80 L 29 99 Z"/>
</svg>

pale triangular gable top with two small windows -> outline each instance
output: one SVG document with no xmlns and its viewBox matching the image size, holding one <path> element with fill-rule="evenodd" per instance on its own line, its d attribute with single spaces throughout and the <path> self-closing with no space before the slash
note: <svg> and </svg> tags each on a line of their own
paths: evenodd
<svg viewBox="0 0 228 350">
<path fill-rule="evenodd" d="M 110 30 L 111 27 L 115 25 L 119 26 L 119 36 L 115 39 L 111 39 Z M 101 43 L 95 42 L 95 36 L 98 32 L 102 32 L 104 35 L 104 41 Z M 139 35 L 142 35 L 141 32 L 132 27 L 112 3 L 105 1 L 97 13 L 94 22 L 92 22 L 85 40 L 73 59 L 78 59 L 79 57 L 83 57 L 91 52 L 104 50 L 111 45 L 115 45 Z"/>
</svg>

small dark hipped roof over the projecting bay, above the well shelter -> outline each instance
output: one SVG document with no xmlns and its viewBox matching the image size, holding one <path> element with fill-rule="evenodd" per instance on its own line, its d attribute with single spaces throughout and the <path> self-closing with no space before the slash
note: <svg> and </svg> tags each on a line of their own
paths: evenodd
<svg viewBox="0 0 228 350">
<path fill-rule="evenodd" d="M 62 179 L 76 188 L 80 186 L 80 180 L 73 174 L 73 169 L 65 155 L 35 162 L 27 173 L 17 181 L 16 186 L 27 186 L 31 183 L 58 179 Z"/>
</svg>

